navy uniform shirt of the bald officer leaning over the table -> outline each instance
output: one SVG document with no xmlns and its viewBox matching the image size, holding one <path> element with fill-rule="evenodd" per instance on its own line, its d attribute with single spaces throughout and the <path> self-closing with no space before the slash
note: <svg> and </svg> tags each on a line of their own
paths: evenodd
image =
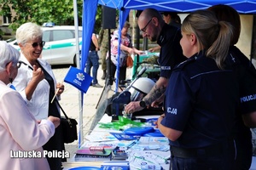
<svg viewBox="0 0 256 170">
<path fill-rule="evenodd" d="M 183 56 L 183 50 L 179 44 L 181 39 L 180 29 L 175 26 L 165 25 L 160 31 L 157 43 L 160 45 L 160 77 L 169 78 L 171 69 L 187 58 Z"/>
</svg>

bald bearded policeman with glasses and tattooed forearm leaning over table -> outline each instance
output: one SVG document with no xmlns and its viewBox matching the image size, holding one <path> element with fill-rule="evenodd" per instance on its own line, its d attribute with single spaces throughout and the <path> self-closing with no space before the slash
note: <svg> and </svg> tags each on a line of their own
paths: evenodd
<svg viewBox="0 0 256 170">
<path fill-rule="evenodd" d="M 159 58 L 160 78 L 142 101 L 135 101 L 126 105 L 125 111 L 128 113 L 141 111 L 150 105 L 161 103 L 173 67 L 186 59 L 179 44 L 181 39 L 180 29 L 176 26 L 167 25 L 156 9 L 144 9 L 138 18 L 138 26 L 143 33 L 143 37 L 148 37 L 151 42 L 157 42 L 161 47 Z"/>
</svg>

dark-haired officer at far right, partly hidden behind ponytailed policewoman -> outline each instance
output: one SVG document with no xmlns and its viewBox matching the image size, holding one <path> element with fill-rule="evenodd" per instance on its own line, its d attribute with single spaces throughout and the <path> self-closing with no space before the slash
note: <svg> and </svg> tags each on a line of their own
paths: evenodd
<svg viewBox="0 0 256 170">
<path fill-rule="evenodd" d="M 230 22 L 234 34 L 230 41 L 230 54 L 228 62 L 233 65 L 240 85 L 240 99 L 256 94 L 256 70 L 252 62 L 236 48 L 241 32 L 241 20 L 235 8 L 228 5 L 214 5 L 208 10 L 214 12 L 218 20 Z M 230 17 L 232 16 L 232 17 Z M 256 127 L 256 99 L 241 100 L 241 109 L 235 125 L 235 140 L 237 148 L 235 169 L 249 169 L 252 164 L 253 144 L 250 127 Z M 246 127 L 247 125 L 247 127 Z"/>
</svg>

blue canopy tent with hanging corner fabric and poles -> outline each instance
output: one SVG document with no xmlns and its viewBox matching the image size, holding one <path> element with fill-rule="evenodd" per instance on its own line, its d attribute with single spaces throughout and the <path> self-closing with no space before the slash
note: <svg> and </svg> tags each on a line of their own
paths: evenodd
<svg viewBox="0 0 256 170">
<path fill-rule="evenodd" d="M 83 42 L 81 47 L 80 69 L 84 71 L 87 55 L 90 47 L 90 38 L 95 24 L 96 6 L 101 4 L 119 10 L 119 36 L 121 28 L 131 9 L 143 10 L 144 8 L 156 8 L 160 11 L 176 11 L 189 13 L 198 9 L 205 9 L 215 4 L 230 5 L 241 14 L 256 14 L 256 0 L 84 0 L 83 7 Z M 119 38 L 120 39 L 120 38 Z M 119 58 L 119 52 L 118 52 Z M 119 65 L 117 65 L 119 77 Z M 118 82 L 118 80 L 116 80 Z M 118 84 L 116 85 L 116 90 Z M 82 94 L 83 105 L 83 94 Z M 83 111 L 83 110 L 81 110 Z M 80 114 L 82 116 L 82 114 Z M 82 117 L 80 117 L 82 119 Z M 81 133 L 80 133 L 81 134 Z M 81 135 L 79 137 L 81 139 Z"/>
</svg>

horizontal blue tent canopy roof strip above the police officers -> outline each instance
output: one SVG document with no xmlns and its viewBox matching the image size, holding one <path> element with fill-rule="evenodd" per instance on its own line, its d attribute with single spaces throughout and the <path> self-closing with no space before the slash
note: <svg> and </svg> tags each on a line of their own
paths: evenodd
<svg viewBox="0 0 256 170">
<path fill-rule="evenodd" d="M 122 10 L 156 8 L 160 11 L 177 11 L 179 13 L 188 13 L 222 3 L 236 8 L 242 14 L 253 14 L 256 12 L 255 0 L 99 0 L 98 3 Z"/>
</svg>

